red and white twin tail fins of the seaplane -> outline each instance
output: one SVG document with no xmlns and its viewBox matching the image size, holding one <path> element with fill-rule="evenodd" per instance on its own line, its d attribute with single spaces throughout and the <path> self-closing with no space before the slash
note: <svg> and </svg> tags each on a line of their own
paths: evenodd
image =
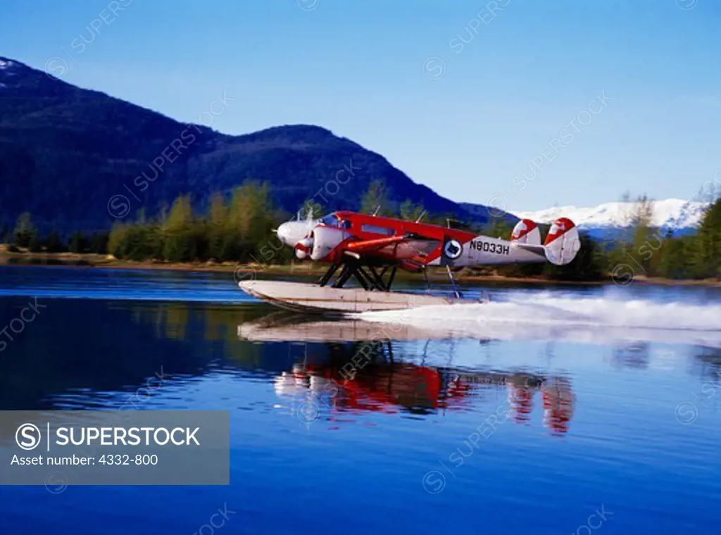
<svg viewBox="0 0 721 535">
<path fill-rule="evenodd" d="M 546 241 L 541 245 L 541 232 L 534 221 L 521 219 L 513 229 L 510 241 L 520 249 L 544 255 L 554 265 L 571 262 L 580 249 L 580 239 L 575 223 L 562 217 L 551 224 Z"/>
</svg>

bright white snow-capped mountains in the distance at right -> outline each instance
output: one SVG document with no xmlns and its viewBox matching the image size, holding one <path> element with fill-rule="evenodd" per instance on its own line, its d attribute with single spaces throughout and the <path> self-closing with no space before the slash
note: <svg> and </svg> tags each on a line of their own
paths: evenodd
<svg viewBox="0 0 721 535">
<path fill-rule="evenodd" d="M 684 234 L 692 231 L 701 222 L 704 210 L 709 203 L 699 203 L 681 199 L 651 201 L 653 216 L 651 225 Z M 534 212 L 516 212 L 516 216 L 533 219 L 539 223 L 550 223 L 559 217 L 570 218 L 579 229 L 591 234 L 604 234 L 606 231 L 622 229 L 628 226 L 634 213 L 634 203 L 603 203 L 590 208 L 575 206 L 557 206 Z"/>
</svg>

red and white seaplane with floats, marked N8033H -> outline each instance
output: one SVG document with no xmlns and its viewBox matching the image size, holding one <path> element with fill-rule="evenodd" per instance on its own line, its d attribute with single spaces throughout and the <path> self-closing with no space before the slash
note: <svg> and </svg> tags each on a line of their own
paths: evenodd
<svg viewBox="0 0 721 535">
<path fill-rule="evenodd" d="M 377 213 L 378 210 L 376 210 Z M 423 214 L 421 215 L 423 217 Z M 276 234 L 293 247 L 298 260 L 329 265 L 315 284 L 278 280 L 239 280 L 246 293 L 283 309 L 345 315 L 365 311 L 412 309 L 477 303 L 464 299 L 454 278 L 462 267 L 551 262 L 566 265 L 580 249 L 578 229 L 569 218 L 553 222 L 541 244 L 539 226 L 521 219 L 505 240 L 448 226 L 335 211 L 286 221 Z M 446 267 L 454 297 L 392 291 L 397 270 L 423 273 Z M 346 288 L 349 280 L 357 286 Z M 427 280 L 427 279 L 426 279 Z"/>
</svg>

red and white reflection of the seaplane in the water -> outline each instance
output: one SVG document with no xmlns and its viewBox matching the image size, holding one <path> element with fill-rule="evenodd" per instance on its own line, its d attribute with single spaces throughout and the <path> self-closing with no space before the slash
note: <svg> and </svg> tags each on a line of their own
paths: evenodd
<svg viewBox="0 0 721 535">
<path fill-rule="evenodd" d="M 529 423 L 538 394 L 543 424 L 553 433 L 566 433 L 575 407 L 575 394 L 565 376 L 528 371 L 477 371 L 422 366 L 394 357 L 389 337 L 379 324 L 359 320 L 298 321 L 283 312 L 241 324 L 242 340 L 263 342 L 322 342 L 327 351 L 306 352 L 303 362 L 275 378 L 275 392 L 288 399 L 301 422 L 348 422 L 344 412 L 408 412 L 464 410 L 490 389 L 508 391 L 508 412 L 517 423 Z M 400 336 L 399 336 L 400 335 Z M 403 329 L 394 340 L 427 340 L 427 332 Z M 307 348 L 307 346 L 306 346 Z M 540 393 L 539 393 L 540 392 Z"/>
</svg>

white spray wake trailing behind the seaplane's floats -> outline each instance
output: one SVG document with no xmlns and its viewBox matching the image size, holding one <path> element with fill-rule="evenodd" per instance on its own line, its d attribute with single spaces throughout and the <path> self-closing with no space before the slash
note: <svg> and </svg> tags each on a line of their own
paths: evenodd
<svg viewBox="0 0 721 535">
<path fill-rule="evenodd" d="M 721 304 L 513 294 L 508 301 L 365 312 L 359 317 L 451 335 L 501 339 L 563 335 L 721 345 Z M 686 335 L 679 336 L 685 332 Z M 585 333 L 585 334 L 584 334 Z M 669 333 L 675 333 L 669 335 Z M 696 334 L 694 334 L 696 333 Z M 709 342 L 710 340 L 710 342 Z"/>
</svg>

